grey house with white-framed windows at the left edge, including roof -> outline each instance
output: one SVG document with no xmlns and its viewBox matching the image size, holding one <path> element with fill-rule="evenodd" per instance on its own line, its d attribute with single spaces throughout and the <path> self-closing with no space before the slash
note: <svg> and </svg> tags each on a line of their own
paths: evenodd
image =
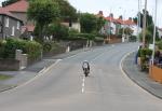
<svg viewBox="0 0 162 111">
<path fill-rule="evenodd" d="M 22 34 L 22 26 L 23 20 L 21 18 L 0 8 L 0 39 L 19 37 Z"/>
</svg>

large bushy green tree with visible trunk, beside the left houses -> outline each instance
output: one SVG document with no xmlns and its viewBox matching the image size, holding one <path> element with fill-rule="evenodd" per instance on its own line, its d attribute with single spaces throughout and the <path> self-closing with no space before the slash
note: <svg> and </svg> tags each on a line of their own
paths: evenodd
<svg viewBox="0 0 162 111">
<path fill-rule="evenodd" d="M 43 42 L 43 28 L 59 17 L 59 6 L 52 0 L 31 0 L 27 11 L 28 18 L 39 28 L 39 39 Z"/>
</svg>

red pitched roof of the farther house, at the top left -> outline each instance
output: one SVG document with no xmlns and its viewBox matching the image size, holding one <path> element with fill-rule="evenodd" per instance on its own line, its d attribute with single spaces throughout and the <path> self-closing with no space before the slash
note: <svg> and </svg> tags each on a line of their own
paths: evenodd
<svg viewBox="0 0 162 111">
<path fill-rule="evenodd" d="M 4 6 L 10 12 L 27 12 L 29 3 L 27 0 L 19 0 L 15 3 Z"/>
</svg>

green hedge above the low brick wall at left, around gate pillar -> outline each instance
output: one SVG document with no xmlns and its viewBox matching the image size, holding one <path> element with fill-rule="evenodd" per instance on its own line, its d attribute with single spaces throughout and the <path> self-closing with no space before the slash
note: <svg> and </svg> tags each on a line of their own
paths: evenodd
<svg viewBox="0 0 162 111">
<path fill-rule="evenodd" d="M 41 44 L 35 41 L 6 39 L 5 42 L 0 44 L 0 58 L 15 58 L 15 51 L 22 50 L 23 53 L 28 54 L 29 59 L 35 60 L 40 57 L 42 52 Z"/>
</svg>

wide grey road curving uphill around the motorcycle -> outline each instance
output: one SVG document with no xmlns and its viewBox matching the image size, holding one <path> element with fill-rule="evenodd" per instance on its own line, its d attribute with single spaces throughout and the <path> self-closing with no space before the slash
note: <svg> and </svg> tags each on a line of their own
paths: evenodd
<svg viewBox="0 0 162 111">
<path fill-rule="evenodd" d="M 137 45 L 107 45 L 65 58 L 28 84 L 1 93 L 0 111 L 161 111 L 162 100 L 120 69 L 122 57 Z M 91 63 L 86 79 L 85 59 Z"/>
</svg>

